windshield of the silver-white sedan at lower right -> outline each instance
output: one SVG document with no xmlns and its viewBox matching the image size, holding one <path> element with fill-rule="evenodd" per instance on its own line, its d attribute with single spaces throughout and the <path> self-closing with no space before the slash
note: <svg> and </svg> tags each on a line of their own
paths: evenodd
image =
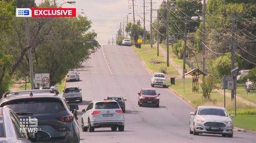
<svg viewBox="0 0 256 143">
<path fill-rule="evenodd" d="M 225 110 L 216 108 L 201 108 L 198 110 L 198 115 L 228 116 Z"/>
</svg>

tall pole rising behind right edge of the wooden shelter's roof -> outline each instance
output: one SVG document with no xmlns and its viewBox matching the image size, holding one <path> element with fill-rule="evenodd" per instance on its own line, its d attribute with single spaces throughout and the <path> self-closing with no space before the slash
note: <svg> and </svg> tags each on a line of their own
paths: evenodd
<svg viewBox="0 0 256 143">
<path fill-rule="evenodd" d="M 206 13 L 206 1 L 203 0 L 203 72 L 205 73 L 205 13 Z"/>
</svg>

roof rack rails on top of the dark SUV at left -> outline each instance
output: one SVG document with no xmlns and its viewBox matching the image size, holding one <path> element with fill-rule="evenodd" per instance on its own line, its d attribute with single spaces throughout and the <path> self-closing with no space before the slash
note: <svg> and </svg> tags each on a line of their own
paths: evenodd
<svg viewBox="0 0 256 143">
<path fill-rule="evenodd" d="M 9 94 L 14 94 L 14 95 L 19 95 L 22 93 L 30 93 L 29 96 L 33 96 L 33 93 L 55 93 L 55 96 L 57 96 L 59 94 L 58 90 L 53 90 L 53 89 L 46 89 L 46 90 L 24 90 L 24 91 L 14 91 L 14 92 L 6 92 L 4 94 L 4 98 L 7 97 L 7 95 Z"/>
</svg>

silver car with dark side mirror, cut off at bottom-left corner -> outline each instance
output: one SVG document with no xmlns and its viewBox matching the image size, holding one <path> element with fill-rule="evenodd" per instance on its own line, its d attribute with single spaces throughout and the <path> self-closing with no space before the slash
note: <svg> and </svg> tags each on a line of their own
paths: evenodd
<svg viewBox="0 0 256 143">
<path fill-rule="evenodd" d="M 50 134 L 38 130 L 34 137 L 30 137 L 26 132 L 20 132 L 19 118 L 16 113 L 7 107 L 0 107 L 0 142 L 13 143 L 32 143 L 48 141 Z"/>
</svg>

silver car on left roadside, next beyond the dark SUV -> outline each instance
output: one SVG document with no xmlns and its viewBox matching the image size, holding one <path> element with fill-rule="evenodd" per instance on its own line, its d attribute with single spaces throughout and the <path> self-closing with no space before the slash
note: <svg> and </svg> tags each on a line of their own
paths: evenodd
<svg viewBox="0 0 256 143">
<path fill-rule="evenodd" d="M 82 89 L 80 89 L 78 86 L 69 86 L 65 87 L 65 89 L 62 91 L 63 97 L 67 101 L 75 101 L 79 100 L 82 102 Z"/>
</svg>

